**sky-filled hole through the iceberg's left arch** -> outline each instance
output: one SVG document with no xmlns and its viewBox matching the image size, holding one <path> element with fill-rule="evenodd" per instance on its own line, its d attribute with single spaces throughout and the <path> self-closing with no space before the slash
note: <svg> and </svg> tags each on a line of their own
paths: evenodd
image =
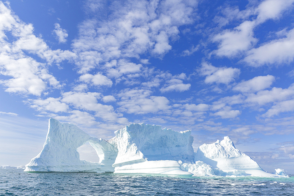
<svg viewBox="0 0 294 196">
<path fill-rule="evenodd" d="M 90 145 L 90 143 L 87 142 L 78 147 L 76 150 L 80 154 L 80 160 L 99 163 L 99 157 L 96 150 Z"/>
</svg>

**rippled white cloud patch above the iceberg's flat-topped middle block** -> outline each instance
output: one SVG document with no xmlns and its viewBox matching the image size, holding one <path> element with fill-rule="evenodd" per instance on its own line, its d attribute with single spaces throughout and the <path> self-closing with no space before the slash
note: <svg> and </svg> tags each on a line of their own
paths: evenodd
<svg viewBox="0 0 294 196">
<path fill-rule="evenodd" d="M 146 89 L 124 89 L 118 97 L 121 98 L 121 101 L 117 103 L 120 105 L 118 110 L 126 113 L 156 113 L 170 108 L 166 97 L 151 96 L 151 91 Z"/>
</svg>

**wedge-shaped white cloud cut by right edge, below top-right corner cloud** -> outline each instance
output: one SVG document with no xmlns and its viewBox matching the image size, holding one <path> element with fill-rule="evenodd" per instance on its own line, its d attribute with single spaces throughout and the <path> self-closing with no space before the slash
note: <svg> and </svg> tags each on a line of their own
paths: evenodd
<svg viewBox="0 0 294 196">
<path fill-rule="evenodd" d="M 290 63 L 294 59 L 294 29 L 285 38 L 272 40 L 258 48 L 247 52 L 243 59 L 250 66 L 258 67 L 264 64 Z"/>
</svg>

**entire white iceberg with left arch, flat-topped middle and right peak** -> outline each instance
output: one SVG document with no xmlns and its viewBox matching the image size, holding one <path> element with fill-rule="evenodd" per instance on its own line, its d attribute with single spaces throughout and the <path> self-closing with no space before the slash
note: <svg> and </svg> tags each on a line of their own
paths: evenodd
<svg viewBox="0 0 294 196">
<path fill-rule="evenodd" d="M 99 163 L 80 160 L 77 148 L 89 142 Z M 253 159 L 222 141 L 201 145 L 195 153 L 191 130 L 173 131 L 159 125 L 132 123 L 110 140 L 93 138 L 78 127 L 50 118 L 43 150 L 24 171 L 114 172 L 181 176 L 286 177 L 264 171 Z"/>
</svg>

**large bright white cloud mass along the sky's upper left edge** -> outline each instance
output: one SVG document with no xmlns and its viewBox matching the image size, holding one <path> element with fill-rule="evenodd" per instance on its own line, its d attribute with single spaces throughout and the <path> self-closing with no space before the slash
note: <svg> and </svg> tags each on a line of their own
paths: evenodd
<svg viewBox="0 0 294 196">
<path fill-rule="evenodd" d="M 6 91 L 11 93 L 41 96 L 46 89 L 61 88 L 61 84 L 49 73 L 48 65 L 73 58 L 70 51 L 51 50 L 46 43 L 34 35 L 31 24 L 25 24 L 10 8 L 0 2 L 0 73 L 10 79 L 2 80 Z M 6 34 L 11 33 L 12 40 Z M 25 52 L 38 55 L 39 62 Z"/>
</svg>

